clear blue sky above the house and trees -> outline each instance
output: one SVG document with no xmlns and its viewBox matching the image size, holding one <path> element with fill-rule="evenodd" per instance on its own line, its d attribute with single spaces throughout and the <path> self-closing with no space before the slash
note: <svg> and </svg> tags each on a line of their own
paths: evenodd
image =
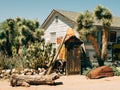
<svg viewBox="0 0 120 90">
<path fill-rule="evenodd" d="M 53 9 L 93 11 L 99 4 L 109 8 L 114 16 L 120 16 L 120 0 L 0 0 L 0 22 L 19 16 L 38 18 L 42 24 Z"/>
</svg>

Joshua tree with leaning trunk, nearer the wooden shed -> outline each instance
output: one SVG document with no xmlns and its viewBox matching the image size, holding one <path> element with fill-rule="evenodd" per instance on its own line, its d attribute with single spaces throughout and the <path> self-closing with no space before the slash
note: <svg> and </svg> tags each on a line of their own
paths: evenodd
<svg viewBox="0 0 120 90">
<path fill-rule="evenodd" d="M 78 31 L 80 33 L 80 37 L 86 36 L 86 38 L 92 43 L 92 46 L 96 52 L 98 58 L 100 58 L 100 48 L 95 37 L 92 35 L 95 33 L 95 27 L 93 27 L 94 23 L 93 13 L 89 12 L 88 10 L 84 13 L 81 13 L 77 18 L 78 23 Z M 98 59 L 99 60 L 99 59 Z"/>
</svg>

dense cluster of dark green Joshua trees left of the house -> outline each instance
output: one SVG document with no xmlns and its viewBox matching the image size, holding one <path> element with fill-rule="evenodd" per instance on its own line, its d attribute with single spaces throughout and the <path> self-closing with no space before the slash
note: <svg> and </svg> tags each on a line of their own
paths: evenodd
<svg viewBox="0 0 120 90">
<path fill-rule="evenodd" d="M 20 47 L 28 47 L 29 42 L 41 42 L 43 30 L 39 28 L 38 20 L 7 19 L 0 26 L 0 46 L 1 50 L 8 56 L 13 52 L 18 54 Z"/>
</svg>

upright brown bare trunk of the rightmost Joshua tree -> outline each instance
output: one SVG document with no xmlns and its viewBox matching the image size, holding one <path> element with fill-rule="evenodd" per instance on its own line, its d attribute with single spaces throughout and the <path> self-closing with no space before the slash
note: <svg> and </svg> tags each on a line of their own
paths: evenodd
<svg viewBox="0 0 120 90">
<path fill-rule="evenodd" d="M 105 61 L 107 59 L 107 41 L 108 41 L 108 31 L 106 27 L 103 27 L 102 30 L 102 51 L 101 51 L 101 59 Z"/>
</svg>

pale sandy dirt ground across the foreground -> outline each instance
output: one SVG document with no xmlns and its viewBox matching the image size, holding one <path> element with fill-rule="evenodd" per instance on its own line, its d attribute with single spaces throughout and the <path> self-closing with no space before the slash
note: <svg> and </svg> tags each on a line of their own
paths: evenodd
<svg viewBox="0 0 120 90">
<path fill-rule="evenodd" d="M 120 76 L 87 79 L 81 75 L 61 76 L 58 85 L 31 85 L 30 87 L 12 87 L 9 80 L 0 81 L 0 90 L 120 90 Z"/>
</svg>

